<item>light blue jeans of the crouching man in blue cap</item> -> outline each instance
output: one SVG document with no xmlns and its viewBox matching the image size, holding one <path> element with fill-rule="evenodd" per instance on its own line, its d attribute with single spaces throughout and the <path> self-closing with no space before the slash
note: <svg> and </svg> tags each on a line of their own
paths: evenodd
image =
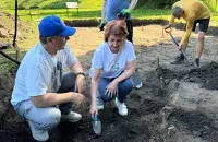
<svg viewBox="0 0 218 142">
<path fill-rule="evenodd" d="M 63 74 L 58 93 L 73 92 L 75 78 L 71 72 Z M 34 122 L 36 129 L 50 130 L 58 126 L 61 115 L 68 115 L 71 111 L 71 107 L 72 103 L 64 103 L 58 106 L 38 108 L 28 99 L 15 105 L 14 109 L 23 119 Z"/>
</svg>

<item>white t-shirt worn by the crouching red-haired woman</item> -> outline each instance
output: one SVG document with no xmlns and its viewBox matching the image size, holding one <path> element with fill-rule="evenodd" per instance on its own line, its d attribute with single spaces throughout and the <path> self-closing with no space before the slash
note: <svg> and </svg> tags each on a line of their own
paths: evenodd
<svg viewBox="0 0 218 142">
<path fill-rule="evenodd" d="M 126 63 L 135 59 L 131 42 L 125 40 L 118 54 L 112 54 L 108 43 L 104 43 L 94 54 L 89 75 L 93 76 L 94 69 L 101 69 L 101 78 L 117 78 L 124 71 Z"/>
</svg>

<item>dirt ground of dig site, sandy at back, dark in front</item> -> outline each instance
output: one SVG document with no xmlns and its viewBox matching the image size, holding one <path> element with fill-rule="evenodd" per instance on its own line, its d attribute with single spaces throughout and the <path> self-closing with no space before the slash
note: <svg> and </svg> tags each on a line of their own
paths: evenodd
<svg viewBox="0 0 218 142">
<path fill-rule="evenodd" d="M 102 34 L 80 27 L 69 42 L 86 72 Z M 173 29 L 172 34 L 179 40 L 183 32 Z M 195 57 L 196 37 L 192 34 L 186 50 L 190 62 Z M 217 37 L 206 36 L 201 72 L 169 63 L 179 51 L 160 25 L 134 27 L 134 45 L 143 87 L 128 96 L 129 115 L 120 116 L 113 102 L 106 104 L 99 115 L 102 133 L 95 135 L 87 91 L 86 107 L 73 107 L 83 114 L 82 121 L 60 123 L 49 132 L 50 142 L 218 142 Z M 31 142 L 27 122 L 9 104 L 13 83 L 14 73 L 0 75 L 0 141 Z"/>
</svg>

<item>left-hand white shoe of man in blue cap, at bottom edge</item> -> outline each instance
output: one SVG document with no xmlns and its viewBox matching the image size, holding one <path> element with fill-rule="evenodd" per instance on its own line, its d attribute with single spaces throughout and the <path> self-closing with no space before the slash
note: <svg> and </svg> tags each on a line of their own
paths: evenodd
<svg viewBox="0 0 218 142">
<path fill-rule="evenodd" d="M 36 129 L 34 123 L 28 120 L 28 125 L 31 127 L 32 135 L 35 140 L 44 142 L 49 139 L 48 131 Z"/>
</svg>

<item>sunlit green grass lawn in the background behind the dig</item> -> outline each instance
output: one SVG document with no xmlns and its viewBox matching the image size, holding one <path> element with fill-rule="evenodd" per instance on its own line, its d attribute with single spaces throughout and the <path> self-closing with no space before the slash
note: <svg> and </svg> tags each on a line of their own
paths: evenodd
<svg viewBox="0 0 218 142">
<path fill-rule="evenodd" d="M 66 1 L 77 1 L 77 0 L 19 0 L 19 5 L 25 8 L 26 10 L 19 10 L 20 19 L 31 21 L 28 16 L 31 5 L 38 5 L 40 8 L 40 17 L 46 15 L 56 14 L 61 16 L 63 20 L 99 20 L 102 0 L 78 0 L 80 13 L 73 9 L 70 12 L 70 16 L 66 15 L 65 2 Z M 144 0 L 146 1 L 146 0 Z M 169 9 L 155 9 L 160 3 L 157 0 L 147 0 L 142 4 L 142 0 L 138 1 L 141 5 L 137 5 L 132 13 L 133 19 L 140 20 L 155 20 L 164 19 L 169 20 L 170 10 Z M 203 0 L 210 9 L 216 8 L 216 0 Z M 150 7 L 150 8 L 149 8 Z M 7 8 L 10 13 L 14 13 L 14 0 L 4 0 L 0 8 Z M 9 10 L 11 9 L 11 10 Z M 218 8 L 217 8 L 218 9 Z M 37 19 L 34 16 L 34 19 Z M 215 13 L 211 21 L 218 21 L 218 15 Z M 216 23 L 216 22 L 215 22 Z"/>
</svg>

